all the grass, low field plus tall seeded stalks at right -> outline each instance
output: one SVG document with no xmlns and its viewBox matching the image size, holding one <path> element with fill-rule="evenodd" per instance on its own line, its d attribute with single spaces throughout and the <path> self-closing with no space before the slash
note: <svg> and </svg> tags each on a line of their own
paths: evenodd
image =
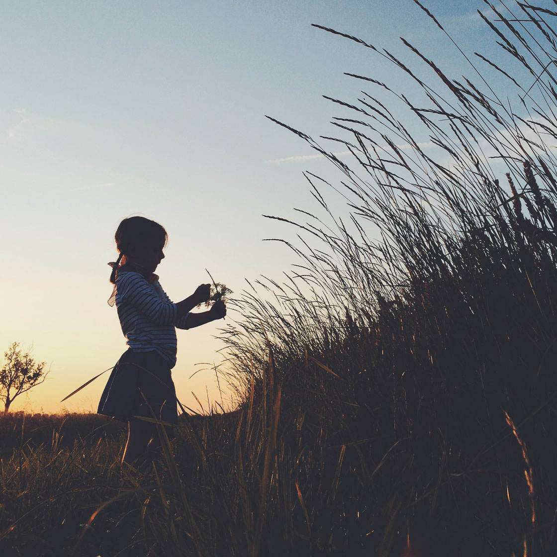
<svg viewBox="0 0 557 557">
<path fill-rule="evenodd" d="M 343 115 L 328 138 L 350 162 L 287 126 L 342 178 L 305 174 L 322 216 L 291 223 L 294 271 L 250 285 L 223 330 L 240 407 L 184 414 L 143 476 L 117 464 L 121 433 L 63 444 L 54 428 L 27 443 L 16 427 L 0 468 L 4 553 L 556 553 L 557 13 L 512 9 L 478 16 L 506 58 L 469 57 L 473 79 L 405 42 L 426 82 L 324 29 L 390 60 L 427 104 L 352 75 L 367 91 L 331 99 Z"/>
</svg>

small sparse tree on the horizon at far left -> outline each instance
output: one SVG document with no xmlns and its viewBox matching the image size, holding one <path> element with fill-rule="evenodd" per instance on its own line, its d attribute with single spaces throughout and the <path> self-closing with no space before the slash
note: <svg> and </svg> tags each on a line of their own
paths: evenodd
<svg viewBox="0 0 557 557">
<path fill-rule="evenodd" d="M 13 400 L 22 393 L 40 385 L 50 370 L 45 371 L 44 361 L 37 363 L 28 352 L 12 343 L 4 352 L 4 366 L 0 371 L 0 400 L 4 402 L 4 414 Z"/>
</svg>

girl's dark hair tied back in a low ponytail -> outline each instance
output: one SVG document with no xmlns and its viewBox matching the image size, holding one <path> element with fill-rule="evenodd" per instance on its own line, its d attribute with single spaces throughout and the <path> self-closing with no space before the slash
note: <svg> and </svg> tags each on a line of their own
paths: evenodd
<svg viewBox="0 0 557 557">
<path fill-rule="evenodd" d="M 120 262 L 125 264 L 130 258 L 143 254 L 145 250 L 162 250 L 167 243 L 168 234 L 158 222 L 145 217 L 129 217 L 119 224 L 114 240 L 120 255 L 110 275 L 110 282 L 113 284 Z"/>
</svg>

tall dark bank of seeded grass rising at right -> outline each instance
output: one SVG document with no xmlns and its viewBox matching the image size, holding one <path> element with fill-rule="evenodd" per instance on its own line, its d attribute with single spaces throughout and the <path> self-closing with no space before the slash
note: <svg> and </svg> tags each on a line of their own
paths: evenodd
<svg viewBox="0 0 557 557">
<path fill-rule="evenodd" d="M 555 553 L 556 15 L 525 3 L 480 13 L 506 58 L 468 57 L 470 79 L 402 39 L 429 82 L 410 61 L 321 27 L 390 60 L 426 104 L 348 74 L 366 89 L 354 102 L 330 99 L 345 115 L 333 121 L 338 136 L 321 140 L 342 143 L 351 162 L 277 122 L 342 178 L 305 173 L 321 216 L 287 221 L 299 229 L 289 243 L 299 264 L 281 284 L 246 291 L 245 319 L 226 334 L 246 383 L 271 347 L 288 385 L 285 434 L 303 416 L 302 460 L 329 453 L 302 492 L 308 521 L 324 526 L 318 539 L 338 540 L 310 486 L 342 462 L 348 512 L 335 521 L 372 553 L 407 536 L 446 554 Z M 504 94 L 485 79 L 491 70 Z M 329 188 L 348 219 L 335 217 Z"/>
</svg>

